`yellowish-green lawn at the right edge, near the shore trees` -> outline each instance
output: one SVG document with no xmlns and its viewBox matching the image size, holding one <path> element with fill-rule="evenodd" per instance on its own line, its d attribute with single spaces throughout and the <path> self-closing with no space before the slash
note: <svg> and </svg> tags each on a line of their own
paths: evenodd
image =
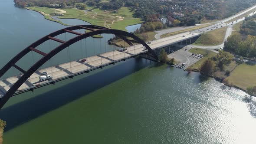
<svg viewBox="0 0 256 144">
<path fill-rule="evenodd" d="M 227 79 L 244 90 L 249 86 L 256 86 L 256 65 L 238 65 Z"/>
</svg>

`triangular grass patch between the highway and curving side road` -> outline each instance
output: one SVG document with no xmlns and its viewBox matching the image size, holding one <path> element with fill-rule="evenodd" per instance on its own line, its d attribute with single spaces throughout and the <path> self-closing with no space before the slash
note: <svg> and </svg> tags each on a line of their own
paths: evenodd
<svg viewBox="0 0 256 144">
<path fill-rule="evenodd" d="M 227 26 L 218 28 L 208 33 L 203 33 L 193 45 L 198 46 L 216 46 L 223 43 Z"/>
</svg>

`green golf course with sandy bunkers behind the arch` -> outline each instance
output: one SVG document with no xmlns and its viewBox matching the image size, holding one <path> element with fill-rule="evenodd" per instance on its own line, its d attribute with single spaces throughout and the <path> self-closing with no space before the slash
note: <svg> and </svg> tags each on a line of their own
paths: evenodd
<svg viewBox="0 0 256 144">
<path fill-rule="evenodd" d="M 58 12 L 58 10 L 54 10 L 53 8 L 47 7 L 29 7 L 31 10 L 35 10 L 38 12 L 45 13 L 44 16 L 47 20 L 55 21 L 62 23 L 59 20 L 54 20 L 51 18 L 50 14 Z M 133 10 L 129 7 L 121 7 L 118 12 L 108 11 L 108 10 L 100 10 L 95 7 L 86 7 L 90 11 L 83 11 L 74 8 L 62 8 L 60 10 L 65 10 L 66 13 L 63 13 L 64 16 L 59 16 L 59 18 L 69 18 L 69 19 L 79 19 L 89 22 L 93 25 L 105 26 L 107 28 L 112 29 L 120 29 L 126 31 L 125 27 L 129 25 L 134 25 L 138 23 L 142 23 L 141 19 L 134 18 L 132 14 Z"/>
</svg>

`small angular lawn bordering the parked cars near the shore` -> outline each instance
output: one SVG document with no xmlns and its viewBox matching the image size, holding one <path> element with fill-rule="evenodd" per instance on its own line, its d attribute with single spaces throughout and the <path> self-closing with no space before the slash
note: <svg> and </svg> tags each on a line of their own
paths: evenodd
<svg viewBox="0 0 256 144">
<path fill-rule="evenodd" d="M 205 60 L 217 54 L 216 52 L 210 51 L 208 49 L 200 49 L 200 48 L 192 48 L 189 50 L 189 52 L 203 55 L 202 59 L 200 59 L 199 61 L 197 61 L 196 63 L 190 66 L 192 69 L 200 69 L 201 65 Z"/>
</svg>

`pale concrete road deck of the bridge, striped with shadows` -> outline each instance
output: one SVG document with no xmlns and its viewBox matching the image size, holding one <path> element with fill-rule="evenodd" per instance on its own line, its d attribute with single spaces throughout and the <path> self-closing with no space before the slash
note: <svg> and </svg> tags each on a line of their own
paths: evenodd
<svg viewBox="0 0 256 144">
<path fill-rule="evenodd" d="M 182 37 L 183 35 L 185 37 Z M 149 46 L 151 47 L 151 49 L 154 50 L 154 49 L 162 48 L 164 46 L 178 43 L 199 35 L 200 35 L 199 33 L 194 33 L 194 35 L 190 33 L 181 33 L 181 34 L 169 36 L 163 39 L 154 40 L 151 42 L 151 44 L 149 44 Z M 125 52 L 118 52 L 118 51 L 105 52 L 98 56 L 91 56 L 91 57 L 85 58 L 86 62 L 83 62 L 83 63 L 79 62 L 78 60 L 78 61 L 63 63 L 63 64 L 49 67 L 46 69 L 41 69 L 33 73 L 33 75 L 30 76 L 30 79 L 28 79 L 25 83 L 23 83 L 23 85 L 20 86 L 20 88 L 18 89 L 18 91 L 16 91 L 16 93 L 30 89 L 30 88 L 38 87 L 46 83 L 50 83 L 52 81 L 56 81 L 64 77 L 68 77 L 70 75 L 74 75 L 79 72 L 84 72 L 90 69 L 94 69 L 95 67 L 99 67 L 101 65 L 106 65 L 112 62 L 116 62 L 120 59 L 126 59 L 132 56 L 136 56 L 140 53 L 144 53 L 147 51 L 148 50 L 144 50 L 143 45 L 138 44 L 135 46 L 128 47 Z M 53 77 L 53 80 L 39 82 L 39 76 L 42 72 L 47 72 L 49 75 Z M 0 97 L 2 97 L 10 89 L 10 87 L 20 78 L 20 76 L 21 75 L 0 80 Z"/>
</svg>

